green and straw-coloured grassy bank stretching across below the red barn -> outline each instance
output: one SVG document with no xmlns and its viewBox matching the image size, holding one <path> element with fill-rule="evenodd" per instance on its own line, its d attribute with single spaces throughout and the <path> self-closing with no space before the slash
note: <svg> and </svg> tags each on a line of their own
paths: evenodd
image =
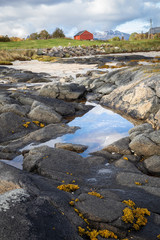
<svg viewBox="0 0 160 240">
<path fill-rule="evenodd" d="M 137 41 L 78 41 L 72 39 L 25 40 L 21 42 L 0 42 L 0 65 L 14 60 L 35 59 L 36 49 L 52 48 L 57 46 L 95 46 L 102 45 L 106 53 L 130 53 L 160 51 L 159 40 Z M 44 59 L 48 61 L 48 59 Z M 52 61 L 53 59 L 51 59 Z M 7 61 L 7 62 L 6 62 Z"/>
</svg>

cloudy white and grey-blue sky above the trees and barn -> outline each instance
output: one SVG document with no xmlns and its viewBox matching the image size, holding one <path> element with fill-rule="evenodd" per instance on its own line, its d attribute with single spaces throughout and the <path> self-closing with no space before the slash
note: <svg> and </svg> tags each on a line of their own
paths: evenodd
<svg viewBox="0 0 160 240">
<path fill-rule="evenodd" d="M 160 0 L 0 0 L 0 35 L 27 37 L 62 28 L 78 31 L 147 32 L 160 27 Z"/>
</svg>

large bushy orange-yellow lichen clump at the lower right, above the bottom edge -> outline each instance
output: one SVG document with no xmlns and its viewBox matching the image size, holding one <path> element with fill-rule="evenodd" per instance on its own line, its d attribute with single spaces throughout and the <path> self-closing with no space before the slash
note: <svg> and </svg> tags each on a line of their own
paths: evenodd
<svg viewBox="0 0 160 240">
<path fill-rule="evenodd" d="M 132 227 L 137 231 L 141 226 L 145 226 L 147 224 L 147 218 L 145 215 L 150 216 L 150 211 L 148 211 L 147 208 L 135 208 L 135 203 L 131 200 L 124 200 L 123 203 L 130 207 L 126 207 L 123 210 L 124 215 L 122 216 L 122 220 L 125 223 L 133 224 Z"/>
</svg>

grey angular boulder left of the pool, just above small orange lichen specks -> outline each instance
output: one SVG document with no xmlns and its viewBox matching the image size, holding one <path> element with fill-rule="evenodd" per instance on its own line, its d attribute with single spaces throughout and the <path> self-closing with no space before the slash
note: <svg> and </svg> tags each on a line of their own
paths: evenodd
<svg viewBox="0 0 160 240">
<path fill-rule="evenodd" d="M 38 120 L 45 123 L 58 123 L 61 122 L 62 116 L 54 111 L 51 107 L 39 105 L 28 114 L 28 117 L 33 120 Z"/>
</svg>

